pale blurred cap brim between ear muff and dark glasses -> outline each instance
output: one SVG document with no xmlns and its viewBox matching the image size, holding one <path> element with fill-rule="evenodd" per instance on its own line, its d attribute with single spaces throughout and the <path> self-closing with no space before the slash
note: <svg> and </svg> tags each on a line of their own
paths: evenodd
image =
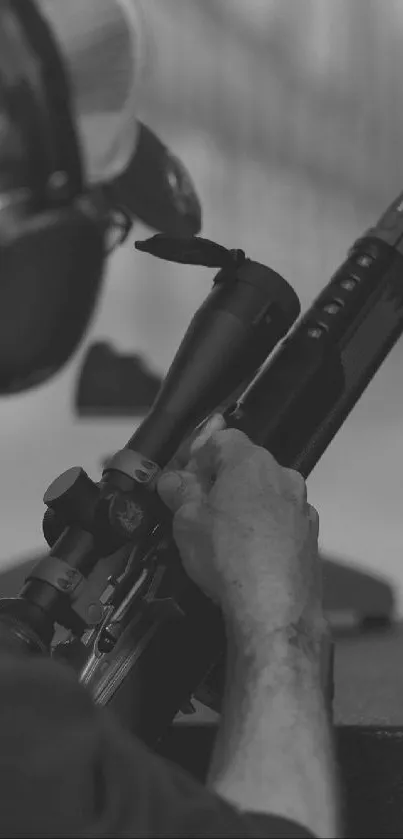
<svg viewBox="0 0 403 839">
<path fill-rule="evenodd" d="M 38 0 L 65 59 L 84 177 L 119 175 L 136 147 L 145 34 L 141 0 Z"/>
</svg>

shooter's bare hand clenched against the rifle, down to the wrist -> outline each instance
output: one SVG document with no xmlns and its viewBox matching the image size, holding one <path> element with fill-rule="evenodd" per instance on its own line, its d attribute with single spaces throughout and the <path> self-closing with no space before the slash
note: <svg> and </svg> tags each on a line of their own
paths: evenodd
<svg viewBox="0 0 403 839">
<path fill-rule="evenodd" d="M 301 475 L 215 415 L 157 488 L 186 572 L 231 621 L 264 637 L 322 626 L 319 517 Z"/>
</svg>

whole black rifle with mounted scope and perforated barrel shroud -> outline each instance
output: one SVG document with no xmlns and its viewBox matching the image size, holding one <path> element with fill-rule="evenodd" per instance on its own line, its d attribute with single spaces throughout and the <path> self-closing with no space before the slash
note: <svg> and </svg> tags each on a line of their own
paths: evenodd
<svg viewBox="0 0 403 839">
<path fill-rule="evenodd" d="M 208 240 L 139 250 L 219 267 L 149 414 L 95 483 L 67 470 L 44 496 L 50 552 L 0 628 L 67 661 L 100 705 L 156 746 L 192 696 L 220 709 L 222 615 L 185 574 L 159 472 L 212 412 L 306 479 L 403 331 L 403 194 L 300 316 L 271 269 Z"/>
</svg>

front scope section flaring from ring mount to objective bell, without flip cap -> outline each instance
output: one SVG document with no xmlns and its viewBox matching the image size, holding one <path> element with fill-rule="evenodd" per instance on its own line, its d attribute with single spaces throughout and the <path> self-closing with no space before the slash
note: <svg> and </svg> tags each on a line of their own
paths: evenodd
<svg viewBox="0 0 403 839">
<path fill-rule="evenodd" d="M 222 269 L 194 315 L 145 420 L 103 473 L 124 492 L 152 487 L 159 469 L 214 408 L 250 379 L 288 332 L 299 299 L 279 274 L 245 259 Z M 134 453 L 134 456 L 133 456 Z"/>
</svg>

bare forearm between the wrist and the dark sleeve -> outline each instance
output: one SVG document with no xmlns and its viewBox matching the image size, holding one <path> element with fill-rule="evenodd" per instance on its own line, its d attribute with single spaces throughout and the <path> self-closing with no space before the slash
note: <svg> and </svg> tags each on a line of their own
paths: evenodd
<svg viewBox="0 0 403 839">
<path fill-rule="evenodd" d="M 278 814 L 320 837 L 340 835 L 318 661 L 283 633 L 248 655 L 244 649 L 228 629 L 226 692 L 208 786 L 241 810 Z"/>
</svg>

